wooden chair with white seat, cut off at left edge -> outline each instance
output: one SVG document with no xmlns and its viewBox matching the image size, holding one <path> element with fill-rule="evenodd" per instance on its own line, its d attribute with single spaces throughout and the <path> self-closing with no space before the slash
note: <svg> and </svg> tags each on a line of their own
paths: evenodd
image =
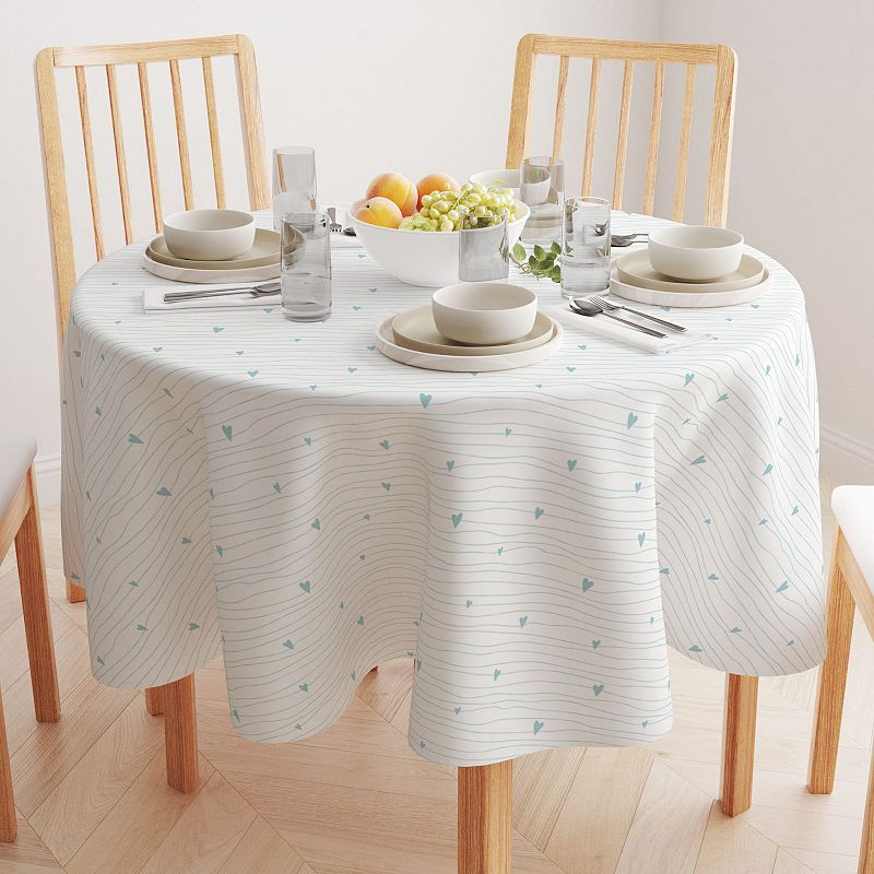
<svg viewBox="0 0 874 874">
<path fill-rule="evenodd" d="M 5 557 L 14 540 L 34 709 L 39 722 L 57 722 L 61 714 L 61 702 L 33 469 L 35 456 L 34 440 L 0 438 L 0 560 Z M 16 832 L 12 773 L 0 697 L 0 841 L 15 840 Z"/>
</svg>

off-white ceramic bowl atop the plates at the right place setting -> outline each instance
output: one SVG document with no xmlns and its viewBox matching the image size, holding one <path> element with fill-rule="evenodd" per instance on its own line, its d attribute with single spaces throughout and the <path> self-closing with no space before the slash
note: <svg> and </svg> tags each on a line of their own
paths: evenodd
<svg viewBox="0 0 874 874">
<path fill-rule="evenodd" d="M 660 227 L 649 235 L 649 262 L 665 276 L 707 282 L 741 265 L 744 238 L 735 231 L 704 225 Z"/>
</svg>

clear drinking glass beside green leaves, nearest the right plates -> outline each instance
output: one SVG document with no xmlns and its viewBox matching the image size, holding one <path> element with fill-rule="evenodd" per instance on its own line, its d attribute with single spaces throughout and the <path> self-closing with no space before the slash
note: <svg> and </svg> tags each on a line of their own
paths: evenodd
<svg viewBox="0 0 874 874">
<path fill-rule="evenodd" d="M 598 294 L 610 287 L 610 201 L 569 198 L 562 239 L 562 296 Z"/>
</svg>

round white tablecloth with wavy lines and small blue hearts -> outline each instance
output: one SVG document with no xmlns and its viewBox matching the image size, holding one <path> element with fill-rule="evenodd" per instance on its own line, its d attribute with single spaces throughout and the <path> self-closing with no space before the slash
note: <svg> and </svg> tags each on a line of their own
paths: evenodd
<svg viewBox="0 0 874 874">
<path fill-rule="evenodd" d="M 142 249 L 82 277 L 64 355 L 64 563 L 102 682 L 221 650 L 236 730 L 294 741 L 406 656 L 413 747 L 482 765 L 660 737 L 666 645 L 739 674 L 822 660 L 814 359 L 772 260 L 758 303 L 672 311 L 696 345 L 569 316 L 539 365 L 448 374 L 376 350 L 429 292 L 361 249 L 320 324 L 144 315 Z"/>
</svg>

